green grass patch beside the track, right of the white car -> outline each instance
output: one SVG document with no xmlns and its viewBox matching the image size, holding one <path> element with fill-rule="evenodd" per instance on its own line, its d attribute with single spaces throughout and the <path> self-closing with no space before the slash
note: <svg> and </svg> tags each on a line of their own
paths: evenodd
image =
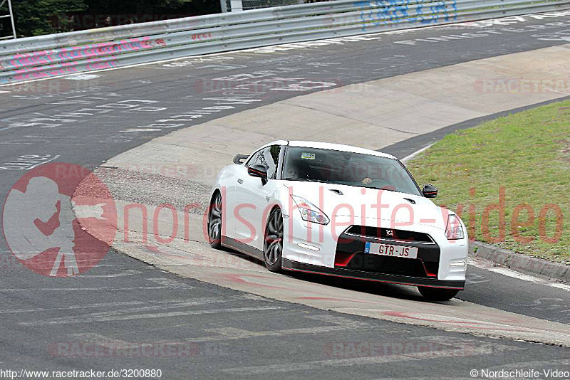
<svg viewBox="0 0 570 380">
<path fill-rule="evenodd" d="M 470 238 L 570 264 L 570 101 L 448 134 L 407 166 Z"/>
</svg>

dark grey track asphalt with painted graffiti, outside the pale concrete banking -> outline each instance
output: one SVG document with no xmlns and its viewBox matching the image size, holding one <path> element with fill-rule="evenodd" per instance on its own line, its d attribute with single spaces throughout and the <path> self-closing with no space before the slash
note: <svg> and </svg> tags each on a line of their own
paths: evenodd
<svg viewBox="0 0 570 380">
<path fill-rule="evenodd" d="M 546 25 L 554 22 L 559 24 Z M 58 156 L 58 162 L 97 167 L 148 139 L 191 125 L 192 122 L 187 122 L 167 129 L 164 128 L 167 123 L 161 122 L 162 127 L 156 123 L 149 126 L 176 112 L 197 110 L 202 115 L 199 122 L 203 122 L 300 95 L 300 91 L 291 90 L 288 83 L 309 80 L 346 85 L 559 45 L 567 43 L 560 38 L 564 36 L 560 32 L 568 28 L 569 22 L 569 16 L 560 16 L 544 20 L 527 18 L 512 25 L 483 29 L 472 26 L 415 29 L 384 34 L 380 39 L 368 36 L 376 39 L 366 41 L 275 53 L 234 52 L 210 60 L 188 58 L 178 63 L 105 71 L 96 73 L 99 77 L 91 80 L 58 78 L 0 88 L 6 91 L 0 94 L 3 100 L 0 167 L 28 154 Z M 439 42 L 429 39 L 465 32 L 485 36 Z M 551 39 L 559 39 L 539 39 L 546 33 Z M 543 37 L 537 37 L 539 35 Z M 254 91 L 240 94 L 242 103 L 246 104 L 220 112 L 204 110 L 217 104 L 216 100 L 209 99 L 224 96 L 221 91 L 204 93 L 212 90 L 212 78 L 242 74 L 251 80 L 259 75 L 254 73 L 262 70 L 286 78 L 279 82 L 284 90 L 254 86 Z M 154 111 L 116 108 L 123 100 L 147 100 L 147 107 L 157 108 Z M 108 112 L 98 113 L 101 110 Z M 143 131 L 136 132 L 137 129 Z M 21 174 L 20 170 L 1 170 L 1 194 L 6 196 Z M 268 374 L 309 378 L 340 378 L 347 374 L 365 378 L 418 374 L 469 378 L 470 369 L 534 366 L 567 370 L 570 365 L 568 349 L 477 338 L 259 299 L 177 278 L 113 250 L 87 275 L 55 279 L 22 268 L 9 254 L 4 240 L 1 249 L 0 368 L 3 369 L 143 367 L 162 369 L 167 379 L 261 378 Z M 568 295 L 563 290 L 546 289 L 472 267 L 468 283 L 470 287 L 465 297 L 470 297 L 472 302 L 509 307 L 520 313 L 534 310 L 534 316 L 569 322 L 570 310 L 564 310 L 564 305 L 569 304 Z M 497 284 L 501 291 L 497 291 Z M 520 297 L 524 297 L 525 302 L 512 305 L 513 300 Z M 197 342 L 199 353 L 182 359 L 124 358 L 117 354 L 93 358 L 69 357 L 65 350 L 53 351 L 56 342 L 180 339 Z M 393 346 L 405 342 L 415 347 L 415 352 L 390 358 L 385 354 L 362 357 L 362 353 L 342 349 L 348 346 L 339 346 L 338 342 L 388 342 Z M 424 353 L 420 352 L 425 342 L 432 344 L 427 354 L 425 348 Z M 457 346 L 451 344 L 450 347 L 450 342 L 466 344 L 469 349 L 454 352 Z M 334 343 L 337 345 L 333 346 Z M 327 347 L 336 347 L 336 351 Z M 366 349 L 364 352 L 366 354 Z"/>
</svg>

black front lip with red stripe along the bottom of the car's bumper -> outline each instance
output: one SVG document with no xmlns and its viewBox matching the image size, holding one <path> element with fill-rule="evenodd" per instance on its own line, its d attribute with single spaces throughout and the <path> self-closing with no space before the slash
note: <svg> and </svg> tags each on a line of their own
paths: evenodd
<svg viewBox="0 0 570 380">
<path fill-rule="evenodd" d="M 400 285 L 440 287 L 444 289 L 463 290 L 465 281 L 437 280 L 437 278 L 417 278 L 402 275 L 385 275 L 382 273 L 369 273 L 362 270 L 351 270 L 342 268 L 327 268 L 319 265 L 299 263 L 296 261 L 283 259 L 283 269 L 296 272 L 316 273 L 319 275 L 330 275 L 355 280 L 377 281 L 379 283 L 392 283 Z"/>
</svg>

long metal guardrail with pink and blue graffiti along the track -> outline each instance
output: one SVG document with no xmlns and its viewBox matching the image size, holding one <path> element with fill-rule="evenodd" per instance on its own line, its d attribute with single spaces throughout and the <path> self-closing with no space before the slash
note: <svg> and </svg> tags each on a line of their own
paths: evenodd
<svg viewBox="0 0 570 380">
<path fill-rule="evenodd" d="M 570 0 L 338 0 L 0 42 L 0 84 L 280 43 L 570 9 Z"/>
</svg>

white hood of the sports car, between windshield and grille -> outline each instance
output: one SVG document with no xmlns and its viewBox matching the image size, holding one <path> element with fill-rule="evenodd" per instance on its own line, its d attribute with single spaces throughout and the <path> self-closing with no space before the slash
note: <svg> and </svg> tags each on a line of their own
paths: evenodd
<svg viewBox="0 0 570 380">
<path fill-rule="evenodd" d="M 284 181 L 289 194 L 301 196 L 321 209 L 328 218 L 354 216 L 354 223 L 373 218 L 414 225 L 429 225 L 445 230 L 450 211 L 433 204 L 424 196 L 366 187 L 321 182 Z M 340 194 L 339 194 L 340 193 Z M 380 205 L 381 207 L 378 207 Z M 380 211 L 379 211 L 380 210 Z"/>
</svg>

